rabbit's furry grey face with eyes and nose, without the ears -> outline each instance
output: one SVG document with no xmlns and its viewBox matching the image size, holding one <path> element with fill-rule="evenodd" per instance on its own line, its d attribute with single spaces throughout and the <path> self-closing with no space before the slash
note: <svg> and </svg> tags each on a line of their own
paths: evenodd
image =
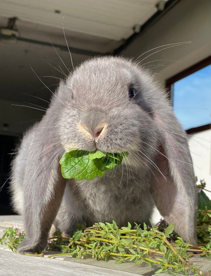
<svg viewBox="0 0 211 276">
<path fill-rule="evenodd" d="M 157 139 L 149 135 L 154 120 L 139 70 L 131 62 L 107 57 L 85 62 L 75 71 L 66 83 L 60 122 L 66 151 L 130 153 L 155 147 Z"/>
</svg>

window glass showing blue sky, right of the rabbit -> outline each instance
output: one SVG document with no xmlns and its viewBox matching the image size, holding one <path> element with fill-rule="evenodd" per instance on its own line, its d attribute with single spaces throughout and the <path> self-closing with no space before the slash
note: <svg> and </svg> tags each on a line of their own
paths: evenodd
<svg viewBox="0 0 211 276">
<path fill-rule="evenodd" d="M 173 84 L 174 113 L 185 130 L 210 123 L 211 65 Z"/>
</svg>

